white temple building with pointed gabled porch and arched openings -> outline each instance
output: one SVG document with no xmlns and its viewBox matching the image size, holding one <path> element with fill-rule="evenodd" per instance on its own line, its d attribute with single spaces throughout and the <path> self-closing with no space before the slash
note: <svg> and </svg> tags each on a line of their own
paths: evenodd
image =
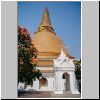
<svg viewBox="0 0 100 100">
<path fill-rule="evenodd" d="M 63 91 L 71 91 L 72 94 L 79 94 L 75 78 L 75 65 L 73 61 L 66 57 L 63 50 L 57 59 L 53 60 L 53 72 L 42 73 L 44 85 L 41 85 L 40 80 L 33 81 L 33 86 L 27 89 L 35 89 L 37 91 L 54 91 L 55 94 L 63 94 Z M 45 67 L 39 68 L 45 70 Z M 24 83 L 20 83 L 24 88 Z M 20 88 L 20 87 L 19 87 Z"/>
</svg>

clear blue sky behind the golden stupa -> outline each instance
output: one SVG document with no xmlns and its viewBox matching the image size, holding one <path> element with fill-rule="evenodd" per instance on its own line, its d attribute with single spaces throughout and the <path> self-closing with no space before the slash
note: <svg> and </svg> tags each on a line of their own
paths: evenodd
<svg viewBox="0 0 100 100">
<path fill-rule="evenodd" d="M 76 59 L 81 58 L 81 2 L 18 2 L 18 25 L 32 36 L 47 6 L 54 31 Z"/>
</svg>

